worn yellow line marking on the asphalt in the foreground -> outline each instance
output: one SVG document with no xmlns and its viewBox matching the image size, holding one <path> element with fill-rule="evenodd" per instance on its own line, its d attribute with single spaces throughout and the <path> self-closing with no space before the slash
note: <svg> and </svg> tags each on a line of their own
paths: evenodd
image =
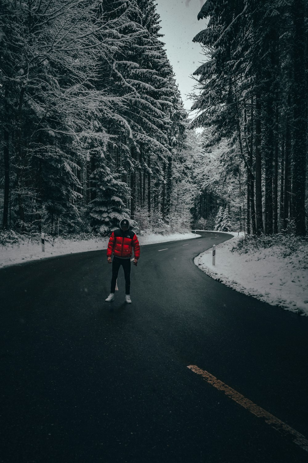
<svg viewBox="0 0 308 463">
<path fill-rule="evenodd" d="M 226 395 L 228 395 L 228 397 L 230 397 L 239 405 L 242 405 L 242 407 L 246 408 L 255 416 L 264 418 L 265 422 L 268 425 L 271 425 L 277 431 L 282 432 L 283 434 L 290 434 L 293 438 L 293 442 L 308 452 L 308 440 L 300 432 L 297 432 L 295 429 L 291 428 L 291 426 L 285 424 L 283 421 L 281 421 L 281 419 L 276 418 L 276 416 L 272 415 L 271 413 L 266 412 L 264 408 L 259 407 L 251 400 L 246 399 L 246 397 L 244 397 L 242 394 L 227 386 L 227 384 L 211 375 L 211 373 L 208 371 L 201 370 L 196 365 L 188 365 L 187 368 L 191 369 L 194 373 L 201 375 L 205 381 L 214 386 L 214 388 L 223 391 Z"/>
</svg>

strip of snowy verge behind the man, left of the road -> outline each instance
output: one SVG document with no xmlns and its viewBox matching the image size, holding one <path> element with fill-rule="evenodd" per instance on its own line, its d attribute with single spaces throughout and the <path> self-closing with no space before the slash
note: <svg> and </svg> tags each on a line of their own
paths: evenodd
<svg viewBox="0 0 308 463">
<path fill-rule="evenodd" d="M 181 239 L 198 238 L 200 235 L 194 233 L 174 233 L 172 235 L 151 235 L 138 236 L 139 243 L 155 244 L 166 241 L 178 241 Z M 37 242 L 20 242 L 19 244 L 7 245 L 0 248 L 0 268 L 7 265 L 45 259 L 46 257 L 72 254 L 75 252 L 97 251 L 107 249 L 108 239 L 91 238 L 88 240 L 69 240 L 55 238 L 53 243 L 45 240 L 45 252 L 42 252 L 41 244 Z"/>
</svg>

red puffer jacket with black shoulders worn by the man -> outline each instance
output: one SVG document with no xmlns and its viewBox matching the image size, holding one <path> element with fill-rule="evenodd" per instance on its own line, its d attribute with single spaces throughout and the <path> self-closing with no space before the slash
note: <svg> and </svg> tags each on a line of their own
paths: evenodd
<svg viewBox="0 0 308 463">
<path fill-rule="evenodd" d="M 111 257 L 114 253 L 115 257 L 132 257 L 134 250 L 134 258 L 140 257 L 140 246 L 137 236 L 131 230 L 123 232 L 119 228 L 111 233 L 109 238 L 107 257 Z"/>
</svg>

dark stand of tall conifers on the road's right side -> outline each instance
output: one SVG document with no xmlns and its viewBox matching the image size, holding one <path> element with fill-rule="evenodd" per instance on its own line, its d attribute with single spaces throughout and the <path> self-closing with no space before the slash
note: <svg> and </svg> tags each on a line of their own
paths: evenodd
<svg viewBox="0 0 308 463">
<path fill-rule="evenodd" d="M 226 144 L 220 163 L 245 194 L 248 233 L 306 233 L 307 13 L 306 0 L 207 0 L 198 15 L 209 21 L 193 38 L 205 60 L 192 126 L 207 127 L 208 150 Z"/>
</svg>

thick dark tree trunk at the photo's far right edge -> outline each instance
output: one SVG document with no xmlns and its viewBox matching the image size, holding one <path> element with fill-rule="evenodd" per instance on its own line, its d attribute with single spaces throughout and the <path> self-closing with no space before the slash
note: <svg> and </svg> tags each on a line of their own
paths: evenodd
<svg viewBox="0 0 308 463">
<path fill-rule="evenodd" d="M 293 0 L 294 81 L 293 81 L 293 217 L 296 234 L 305 235 L 305 188 L 307 163 L 307 87 L 305 0 Z"/>
</svg>

